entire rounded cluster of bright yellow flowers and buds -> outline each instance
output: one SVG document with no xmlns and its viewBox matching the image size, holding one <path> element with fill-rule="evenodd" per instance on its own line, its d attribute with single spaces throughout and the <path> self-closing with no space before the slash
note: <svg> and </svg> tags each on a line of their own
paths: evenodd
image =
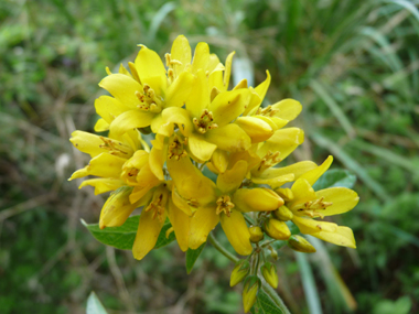
<svg viewBox="0 0 419 314">
<path fill-rule="evenodd" d="M 311 161 L 278 166 L 303 142 L 301 129 L 284 128 L 300 113 L 300 102 L 284 99 L 262 107 L 268 72 L 255 88 L 243 79 L 229 89 L 233 55 L 223 65 L 206 43 L 198 43 L 192 56 L 181 35 L 165 66 L 141 46 L 129 71 L 122 65 L 119 73 L 108 71 L 99 86 L 111 96 L 95 101 L 101 117 L 95 131 L 109 131 L 108 137 L 75 131 L 71 139 L 92 156 L 71 180 L 97 176 L 80 187 L 94 186 L 96 194 L 114 191 L 100 228 L 121 226 L 143 207 L 132 247 L 137 259 L 154 247 L 166 219 L 183 251 L 197 249 L 218 223 L 241 256 L 249 256 L 264 234 L 312 251 L 307 240 L 291 237 L 288 220 L 302 234 L 355 248 L 350 228 L 318 219 L 351 210 L 358 202 L 348 188 L 313 190 L 332 156 L 319 166 Z M 151 149 L 141 136 L 150 132 Z M 203 171 L 213 172 L 216 181 Z M 287 183 L 290 187 L 283 187 Z M 254 220 L 248 213 L 256 213 Z"/>
</svg>

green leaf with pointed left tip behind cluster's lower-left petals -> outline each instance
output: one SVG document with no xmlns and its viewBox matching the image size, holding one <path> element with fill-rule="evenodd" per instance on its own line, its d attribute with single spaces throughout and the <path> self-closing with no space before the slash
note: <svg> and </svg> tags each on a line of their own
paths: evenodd
<svg viewBox="0 0 419 314">
<path fill-rule="evenodd" d="M 82 224 L 90 231 L 96 240 L 121 250 L 132 249 L 139 221 L 140 216 L 138 215 L 129 217 L 120 227 L 106 227 L 105 229 L 100 229 L 98 224 L 89 225 L 82 219 Z M 171 227 L 172 225 L 169 221 L 163 225 L 154 249 L 164 247 L 175 239 L 174 232 L 170 234 L 169 238 L 165 237 L 165 231 Z"/>
</svg>

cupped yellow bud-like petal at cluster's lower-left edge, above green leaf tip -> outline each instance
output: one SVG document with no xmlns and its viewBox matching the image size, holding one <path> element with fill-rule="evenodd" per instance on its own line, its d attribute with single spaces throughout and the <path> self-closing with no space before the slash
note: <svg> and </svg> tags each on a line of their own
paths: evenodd
<svg viewBox="0 0 419 314">
<path fill-rule="evenodd" d="M 110 194 L 100 212 L 100 229 L 123 225 L 132 210 L 138 206 L 138 203 L 131 204 L 131 202 L 129 202 L 131 192 L 131 186 L 122 186 Z"/>
</svg>

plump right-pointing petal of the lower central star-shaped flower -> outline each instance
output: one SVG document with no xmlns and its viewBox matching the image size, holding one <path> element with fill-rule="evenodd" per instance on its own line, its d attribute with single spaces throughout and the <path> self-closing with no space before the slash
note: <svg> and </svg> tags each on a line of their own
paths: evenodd
<svg viewBox="0 0 419 314">
<path fill-rule="evenodd" d="M 239 188 L 233 195 L 233 203 L 244 213 L 271 212 L 283 205 L 283 199 L 268 188 Z"/>
</svg>

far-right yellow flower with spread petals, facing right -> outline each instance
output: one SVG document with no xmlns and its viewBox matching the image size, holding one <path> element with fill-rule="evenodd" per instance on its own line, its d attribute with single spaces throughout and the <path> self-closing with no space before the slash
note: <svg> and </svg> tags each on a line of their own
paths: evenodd
<svg viewBox="0 0 419 314">
<path fill-rule="evenodd" d="M 333 158 L 329 156 L 323 164 L 301 175 L 292 185 L 292 197 L 286 202 L 286 206 L 292 212 L 291 220 L 302 234 L 337 246 L 356 248 L 351 228 L 312 219 L 346 213 L 359 201 L 358 195 L 346 187 L 314 192 L 312 185 L 330 167 Z"/>
</svg>

